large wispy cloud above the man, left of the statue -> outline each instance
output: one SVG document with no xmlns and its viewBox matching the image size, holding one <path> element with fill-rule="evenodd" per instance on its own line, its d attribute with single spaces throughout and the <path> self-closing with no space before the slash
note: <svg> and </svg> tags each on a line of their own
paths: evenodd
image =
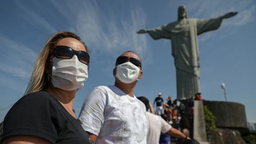
<svg viewBox="0 0 256 144">
<path fill-rule="evenodd" d="M 147 50 L 146 35 L 136 33 L 145 27 L 146 14 L 139 7 L 133 7 L 128 17 L 115 14 L 111 17 L 99 9 L 96 1 L 82 1 L 76 4 L 64 1 L 62 5 L 52 0 L 53 4 L 69 21 L 74 21 L 70 29 L 75 30 L 87 45 L 93 45 L 92 54 L 99 51 L 108 54 L 121 54 L 125 50 L 137 52 L 144 61 L 150 55 Z M 79 9 L 63 11 L 65 9 Z M 69 13 L 69 14 L 68 14 Z M 72 17 L 70 17 L 72 15 Z"/>
</svg>

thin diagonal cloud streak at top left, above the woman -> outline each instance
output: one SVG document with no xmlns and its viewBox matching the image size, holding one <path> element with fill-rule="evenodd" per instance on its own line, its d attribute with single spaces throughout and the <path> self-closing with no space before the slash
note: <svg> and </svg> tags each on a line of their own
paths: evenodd
<svg viewBox="0 0 256 144">
<path fill-rule="evenodd" d="M 36 14 L 35 11 L 30 10 L 29 7 L 26 7 L 25 5 L 21 4 L 21 2 L 18 0 L 16 1 L 16 3 L 22 9 L 22 12 L 25 13 L 22 15 L 22 17 L 28 22 L 28 24 L 31 24 L 36 28 L 45 28 L 49 32 L 57 31 L 43 17 L 41 17 L 39 14 Z"/>
</svg>

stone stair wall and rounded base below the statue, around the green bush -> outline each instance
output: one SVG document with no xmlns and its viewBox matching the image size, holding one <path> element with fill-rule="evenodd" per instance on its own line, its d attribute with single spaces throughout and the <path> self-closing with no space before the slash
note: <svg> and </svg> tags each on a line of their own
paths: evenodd
<svg viewBox="0 0 256 144">
<path fill-rule="evenodd" d="M 181 100 L 187 104 L 187 100 Z M 206 135 L 204 106 L 216 116 L 216 129 Z M 184 116 L 190 121 L 190 137 L 200 144 L 246 144 L 242 135 L 249 132 L 245 107 L 236 102 L 194 101 L 194 115 L 191 119 L 186 108 Z"/>
</svg>

